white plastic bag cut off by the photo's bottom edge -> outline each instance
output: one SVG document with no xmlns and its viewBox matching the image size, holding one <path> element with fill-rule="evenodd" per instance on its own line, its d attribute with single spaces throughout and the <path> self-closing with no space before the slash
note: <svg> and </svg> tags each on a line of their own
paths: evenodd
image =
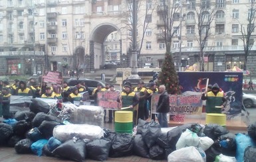
<svg viewBox="0 0 256 162">
<path fill-rule="evenodd" d="M 168 155 L 168 162 L 205 162 L 199 151 L 193 147 L 184 147 Z"/>
</svg>

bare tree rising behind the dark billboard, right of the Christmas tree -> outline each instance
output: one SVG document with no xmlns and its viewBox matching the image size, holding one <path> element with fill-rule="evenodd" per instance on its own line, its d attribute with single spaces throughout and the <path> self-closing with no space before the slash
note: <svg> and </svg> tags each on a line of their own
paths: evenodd
<svg viewBox="0 0 256 162">
<path fill-rule="evenodd" d="M 192 3 L 192 1 L 190 1 Z M 195 7 L 195 5 L 192 6 Z M 215 19 L 215 5 L 211 5 L 209 0 L 201 1 L 198 7 L 195 7 L 195 38 L 199 44 L 199 71 L 204 71 L 204 56 L 207 39 L 211 36 L 211 23 Z"/>
</svg>

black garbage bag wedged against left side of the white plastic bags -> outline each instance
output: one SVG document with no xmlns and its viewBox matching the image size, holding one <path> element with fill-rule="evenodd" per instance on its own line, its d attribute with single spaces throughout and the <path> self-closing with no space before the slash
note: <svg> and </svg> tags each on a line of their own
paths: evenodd
<svg viewBox="0 0 256 162">
<path fill-rule="evenodd" d="M 167 132 L 168 145 L 170 145 L 170 149 L 176 150 L 176 143 L 182 135 L 182 132 L 186 131 L 187 128 L 190 129 L 191 126 L 192 124 L 184 124 Z"/>
</svg>

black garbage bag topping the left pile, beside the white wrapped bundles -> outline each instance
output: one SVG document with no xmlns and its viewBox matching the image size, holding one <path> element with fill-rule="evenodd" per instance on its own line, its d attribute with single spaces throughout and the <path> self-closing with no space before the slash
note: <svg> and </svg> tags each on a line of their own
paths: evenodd
<svg viewBox="0 0 256 162">
<path fill-rule="evenodd" d="M 41 99 L 31 99 L 31 103 L 29 104 L 29 110 L 31 110 L 35 114 L 39 112 L 48 113 L 50 110 L 50 106 L 47 102 L 44 102 Z"/>
</svg>

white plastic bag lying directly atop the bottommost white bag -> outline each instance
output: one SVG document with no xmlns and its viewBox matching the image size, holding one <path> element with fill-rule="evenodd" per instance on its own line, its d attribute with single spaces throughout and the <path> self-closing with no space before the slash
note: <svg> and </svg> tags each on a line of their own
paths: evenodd
<svg viewBox="0 0 256 162">
<path fill-rule="evenodd" d="M 186 131 L 182 133 L 178 142 L 176 143 L 176 149 L 181 149 L 183 147 L 188 147 L 188 146 L 197 147 L 198 143 L 199 143 L 199 137 L 197 136 L 197 134 L 193 133 L 189 129 L 186 129 Z"/>
</svg>

